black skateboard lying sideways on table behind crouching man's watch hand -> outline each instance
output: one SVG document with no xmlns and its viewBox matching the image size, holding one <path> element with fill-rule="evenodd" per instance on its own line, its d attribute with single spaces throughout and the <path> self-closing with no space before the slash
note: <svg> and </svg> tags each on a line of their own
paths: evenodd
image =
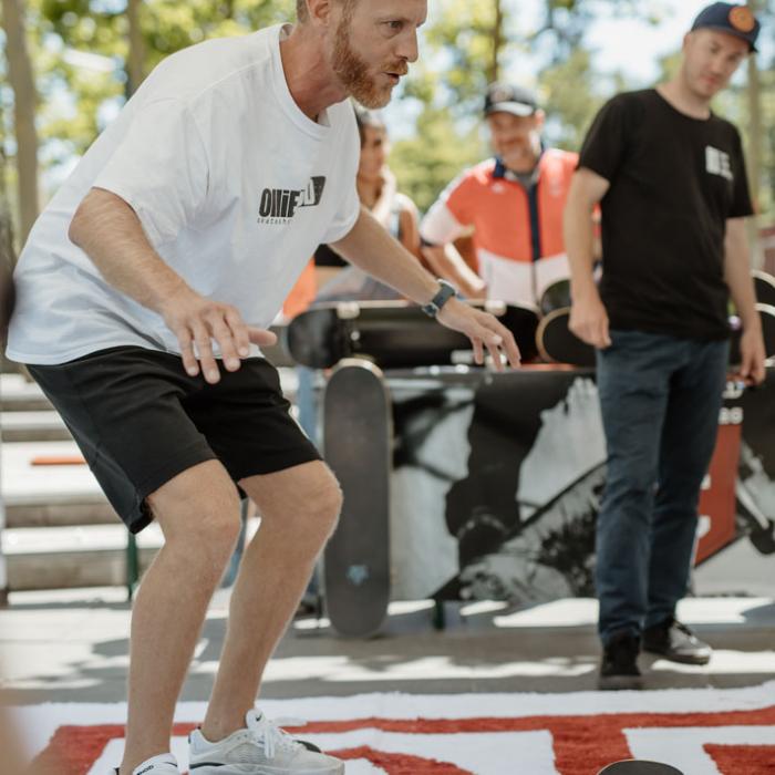
<svg viewBox="0 0 775 775">
<path fill-rule="evenodd" d="M 523 360 L 536 355 L 538 314 L 529 307 L 485 302 L 514 333 Z M 344 358 L 366 358 L 381 369 L 413 369 L 465 362 L 468 338 L 441 326 L 406 301 L 339 301 L 316 304 L 291 320 L 282 343 L 311 369 L 330 369 Z"/>
</svg>

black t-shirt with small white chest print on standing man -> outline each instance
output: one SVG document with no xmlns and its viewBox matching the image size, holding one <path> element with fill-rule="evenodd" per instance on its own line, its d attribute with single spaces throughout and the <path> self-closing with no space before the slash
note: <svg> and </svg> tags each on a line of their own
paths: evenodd
<svg viewBox="0 0 775 775">
<path fill-rule="evenodd" d="M 752 214 L 737 130 L 692 118 L 655 90 L 613 97 L 579 158 L 609 180 L 600 294 L 611 328 L 728 335 L 727 218 Z"/>
</svg>

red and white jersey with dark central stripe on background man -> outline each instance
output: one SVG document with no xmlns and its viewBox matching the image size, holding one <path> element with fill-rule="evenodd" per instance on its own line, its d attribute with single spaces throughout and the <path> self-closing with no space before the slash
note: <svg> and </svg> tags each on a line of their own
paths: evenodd
<svg viewBox="0 0 775 775">
<path fill-rule="evenodd" d="M 446 245 L 474 229 L 478 273 L 487 294 L 536 304 L 544 289 L 570 276 L 562 210 L 578 155 L 549 148 L 527 190 L 499 159 L 466 169 L 443 192 L 420 226 L 423 239 Z"/>
</svg>

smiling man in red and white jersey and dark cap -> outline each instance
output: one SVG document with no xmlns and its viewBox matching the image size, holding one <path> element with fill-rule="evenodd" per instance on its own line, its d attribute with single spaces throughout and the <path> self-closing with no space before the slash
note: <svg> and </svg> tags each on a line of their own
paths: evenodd
<svg viewBox="0 0 775 775">
<path fill-rule="evenodd" d="M 578 156 L 545 148 L 545 114 L 536 95 L 494 83 L 484 105 L 495 158 L 463 172 L 420 226 L 434 271 L 466 296 L 535 304 L 569 275 L 562 210 Z M 473 228 L 478 273 L 452 242 Z"/>
</svg>

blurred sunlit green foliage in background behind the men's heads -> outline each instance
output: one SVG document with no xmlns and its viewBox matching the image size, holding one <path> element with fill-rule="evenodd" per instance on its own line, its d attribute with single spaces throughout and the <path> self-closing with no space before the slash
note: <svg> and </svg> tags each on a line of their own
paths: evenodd
<svg viewBox="0 0 775 775">
<path fill-rule="evenodd" d="M 40 97 L 38 127 L 41 163 L 55 167 L 82 154 L 125 100 L 128 54 L 126 0 L 23 0 L 29 44 Z M 140 10 L 145 72 L 164 56 L 203 40 L 246 34 L 294 16 L 294 0 L 145 0 Z M 763 37 L 773 45 L 775 0 L 757 0 Z M 484 158 L 486 133 L 479 111 L 485 85 L 497 72 L 538 87 L 552 145 L 576 149 L 600 104 L 614 87 L 610 74 L 595 66 L 586 33 L 602 16 L 637 17 L 644 23 L 664 13 L 653 0 L 544 0 L 534 28 L 525 22 L 517 0 L 442 0 L 432 8 L 424 32 L 422 61 L 412 69 L 403 99 L 420 118 L 413 132 L 395 144 L 392 157 L 404 190 L 425 209 L 465 166 Z M 766 49 L 766 45 L 763 46 Z M 90 56 L 83 56 L 90 54 Z M 521 65 L 525 54 L 538 62 L 535 72 Z M 663 63 L 665 73 L 678 56 Z M 762 70 L 765 127 L 762 204 L 773 208 L 775 188 L 775 74 Z M 0 133 L 12 157 L 12 99 L 0 62 Z M 604 78 L 603 78 L 604 76 Z M 719 100 L 719 112 L 747 135 L 744 90 Z M 9 175 L 13 174 L 9 165 Z"/>
</svg>

